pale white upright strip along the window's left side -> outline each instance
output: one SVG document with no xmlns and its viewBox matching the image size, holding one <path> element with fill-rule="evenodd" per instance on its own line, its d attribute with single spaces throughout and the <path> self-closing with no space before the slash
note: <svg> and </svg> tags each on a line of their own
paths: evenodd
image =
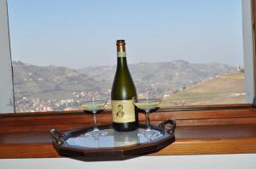
<svg viewBox="0 0 256 169">
<path fill-rule="evenodd" d="M 14 112 L 6 0 L 0 0 L 0 113 Z"/>
</svg>

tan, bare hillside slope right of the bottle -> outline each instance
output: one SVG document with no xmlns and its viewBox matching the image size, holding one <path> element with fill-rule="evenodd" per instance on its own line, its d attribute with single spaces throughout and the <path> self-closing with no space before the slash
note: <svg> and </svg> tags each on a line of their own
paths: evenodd
<svg viewBox="0 0 256 169">
<path fill-rule="evenodd" d="M 246 103 L 245 76 L 230 73 L 188 87 L 166 97 L 162 105 L 244 104 Z"/>
</svg>

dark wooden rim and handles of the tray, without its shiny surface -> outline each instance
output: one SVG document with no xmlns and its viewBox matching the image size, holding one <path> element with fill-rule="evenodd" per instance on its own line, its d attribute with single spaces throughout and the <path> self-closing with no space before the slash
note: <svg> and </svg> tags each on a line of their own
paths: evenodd
<svg viewBox="0 0 256 169">
<path fill-rule="evenodd" d="M 171 129 L 166 129 L 165 125 L 170 123 L 172 125 Z M 140 124 L 140 128 L 145 128 L 146 125 Z M 106 148 L 86 148 L 86 147 L 79 147 L 67 144 L 67 138 L 72 137 L 74 135 L 79 135 L 81 132 L 86 132 L 87 130 L 91 130 L 92 127 L 80 127 L 77 129 L 73 129 L 67 132 L 60 132 L 64 135 L 60 137 L 60 142 L 57 142 L 56 139 L 52 142 L 57 152 L 62 156 L 67 156 L 71 158 L 79 158 L 79 160 L 86 161 L 93 159 L 92 161 L 102 161 L 105 158 L 113 157 L 113 160 L 117 160 L 115 157 L 131 157 L 131 156 L 139 156 L 139 155 L 148 155 L 153 153 L 157 150 L 163 149 L 169 144 L 172 144 L 175 141 L 175 134 L 174 129 L 176 127 L 176 121 L 167 120 L 160 124 L 159 127 L 151 125 L 154 129 L 160 130 L 163 134 L 160 138 L 156 138 L 150 143 L 143 143 L 143 144 L 133 144 L 127 145 L 123 147 L 106 147 Z M 99 127 L 100 129 L 106 128 L 113 128 L 112 125 L 104 125 Z M 170 132 L 171 131 L 171 132 Z"/>
</svg>

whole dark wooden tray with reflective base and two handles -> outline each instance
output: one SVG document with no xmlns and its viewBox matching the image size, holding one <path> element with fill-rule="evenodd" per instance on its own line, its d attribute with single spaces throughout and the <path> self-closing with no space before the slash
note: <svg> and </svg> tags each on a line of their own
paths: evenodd
<svg viewBox="0 0 256 169">
<path fill-rule="evenodd" d="M 98 138 L 85 136 L 92 128 L 84 127 L 70 132 L 50 131 L 54 147 L 57 152 L 66 157 L 81 161 L 117 161 L 147 155 L 159 149 L 163 149 L 175 141 L 174 130 L 176 121 L 167 120 L 154 130 L 160 131 L 160 135 L 153 138 L 138 137 L 137 133 L 145 130 L 145 125 L 140 125 L 136 131 L 116 132 L 112 126 L 100 127 L 107 131 L 107 136 Z"/>
</svg>

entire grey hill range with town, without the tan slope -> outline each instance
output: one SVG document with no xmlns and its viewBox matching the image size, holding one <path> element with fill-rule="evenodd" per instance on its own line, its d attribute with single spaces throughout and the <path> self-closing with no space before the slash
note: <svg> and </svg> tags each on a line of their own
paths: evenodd
<svg viewBox="0 0 256 169">
<path fill-rule="evenodd" d="M 73 70 L 59 66 L 14 62 L 15 103 L 18 111 L 78 109 L 81 99 L 110 99 L 116 66 L 89 66 Z M 214 76 L 236 72 L 221 64 L 191 64 L 183 60 L 129 65 L 138 95 L 177 93 Z M 180 92 L 178 92 L 180 94 Z"/>
</svg>

